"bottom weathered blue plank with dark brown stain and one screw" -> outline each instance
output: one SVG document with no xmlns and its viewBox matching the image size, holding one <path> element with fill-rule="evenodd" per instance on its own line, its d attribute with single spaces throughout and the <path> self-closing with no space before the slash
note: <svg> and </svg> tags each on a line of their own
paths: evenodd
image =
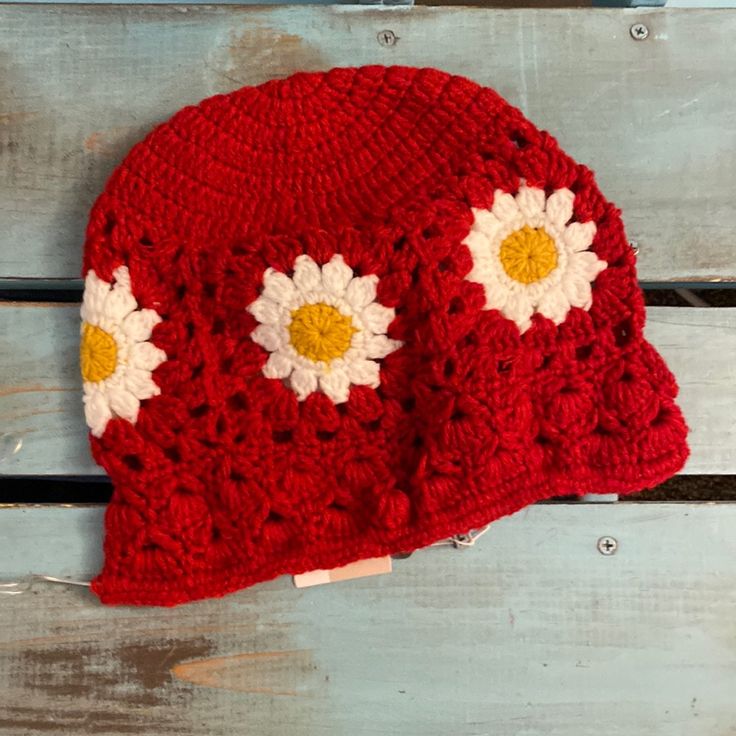
<svg viewBox="0 0 736 736">
<path fill-rule="evenodd" d="M 101 514 L 1 509 L 2 575 L 87 575 Z M 0 595 L 0 733 L 725 736 L 735 557 L 735 504 L 548 505 L 317 588 L 135 609 L 35 583 Z"/>
</svg>

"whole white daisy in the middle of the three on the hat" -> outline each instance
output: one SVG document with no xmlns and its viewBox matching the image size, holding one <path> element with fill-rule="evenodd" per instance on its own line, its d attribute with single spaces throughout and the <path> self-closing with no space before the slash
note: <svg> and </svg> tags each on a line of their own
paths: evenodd
<svg viewBox="0 0 736 736">
<path fill-rule="evenodd" d="M 351 385 L 377 388 L 377 361 L 402 344 L 386 336 L 395 312 L 376 301 L 377 284 L 354 276 L 341 255 L 322 267 L 300 255 L 293 278 L 267 269 L 248 307 L 260 322 L 251 337 L 270 353 L 263 375 L 285 379 L 299 401 L 320 390 L 339 404 Z"/>
</svg>

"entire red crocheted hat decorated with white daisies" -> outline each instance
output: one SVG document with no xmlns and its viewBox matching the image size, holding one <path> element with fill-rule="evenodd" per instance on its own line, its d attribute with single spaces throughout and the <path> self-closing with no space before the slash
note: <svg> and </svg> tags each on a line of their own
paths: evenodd
<svg viewBox="0 0 736 736">
<path fill-rule="evenodd" d="M 407 552 L 688 454 L 619 211 L 435 69 L 181 110 L 97 200 L 84 276 L 104 603 Z"/>
</svg>

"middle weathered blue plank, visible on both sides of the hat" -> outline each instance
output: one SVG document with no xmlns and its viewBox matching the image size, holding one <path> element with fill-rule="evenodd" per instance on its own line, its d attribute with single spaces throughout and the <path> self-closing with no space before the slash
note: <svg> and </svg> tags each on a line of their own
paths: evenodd
<svg viewBox="0 0 736 736">
<path fill-rule="evenodd" d="M 736 309 L 652 308 L 649 339 L 681 385 L 685 473 L 736 472 Z M 77 305 L 0 304 L 0 474 L 95 475 L 78 373 Z"/>
</svg>

